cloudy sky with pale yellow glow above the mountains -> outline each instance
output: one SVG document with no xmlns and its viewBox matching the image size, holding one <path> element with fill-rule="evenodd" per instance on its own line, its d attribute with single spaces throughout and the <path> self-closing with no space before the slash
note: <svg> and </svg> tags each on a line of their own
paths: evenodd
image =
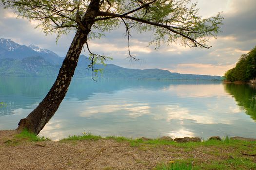
<svg viewBox="0 0 256 170">
<path fill-rule="evenodd" d="M 217 39 L 211 38 L 210 49 L 183 47 L 178 43 L 161 46 L 157 51 L 148 43 L 152 33 L 136 34 L 132 32 L 130 50 L 138 61 L 128 57 L 128 41 L 124 37 L 125 29 L 120 27 L 106 33 L 101 39 L 91 40 L 92 52 L 110 56 L 107 63 L 125 68 L 149 69 L 159 68 L 171 72 L 220 75 L 233 68 L 242 54 L 248 53 L 256 46 L 256 0 L 191 0 L 198 2 L 199 15 L 203 18 L 222 12 L 224 17 L 221 33 Z M 56 35 L 45 35 L 35 29 L 36 22 L 17 19 L 10 10 L 0 8 L 0 38 L 12 39 L 21 45 L 37 45 L 49 49 L 64 57 L 74 32 L 62 35 L 55 43 Z M 87 51 L 83 54 L 88 56 Z"/>
</svg>

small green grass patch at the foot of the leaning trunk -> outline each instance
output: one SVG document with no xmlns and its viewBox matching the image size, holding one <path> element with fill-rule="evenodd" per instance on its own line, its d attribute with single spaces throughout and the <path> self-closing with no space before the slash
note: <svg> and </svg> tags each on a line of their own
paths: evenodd
<svg viewBox="0 0 256 170">
<path fill-rule="evenodd" d="M 45 137 L 39 137 L 34 133 L 29 132 L 27 129 L 24 129 L 20 134 L 15 135 L 18 139 L 25 139 L 32 142 L 46 141 L 49 140 Z"/>
</svg>

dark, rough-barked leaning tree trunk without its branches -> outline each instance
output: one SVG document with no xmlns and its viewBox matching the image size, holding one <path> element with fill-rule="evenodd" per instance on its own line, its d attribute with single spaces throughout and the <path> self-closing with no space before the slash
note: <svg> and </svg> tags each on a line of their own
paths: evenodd
<svg viewBox="0 0 256 170">
<path fill-rule="evenodd" d="M 87 36 L 91 31 L 90 28 L 94 23 L 92 20 L 97 16 L 98 11 L 99 0 L 92 0 L 84 17 L 79 22 L 82 24 L 82 28 L 79 26 L 52 88 L 35 110 L 26 118 L 20 120 L 17 130 L 26 128 L 30 132 L 39 134 L 57 111 L 67 93 L 78 63 L 79 55 L 84 43 L 87 41 Z"/>
</svg>

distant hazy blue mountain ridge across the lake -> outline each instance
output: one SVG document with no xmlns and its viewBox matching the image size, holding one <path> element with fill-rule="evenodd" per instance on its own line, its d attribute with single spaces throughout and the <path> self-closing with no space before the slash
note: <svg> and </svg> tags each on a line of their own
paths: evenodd
<svg viewBox="0 0 256 170">
<path fill-rule="evenodd" d="M 0 38 L 0 76 L 56 77 L 63 59 L 48 49 Z M 75 76 L 91 77 L 91 71 L 86 69 L 89 63 L 89 59 L 81 55 Z M 98 74 L 102 78 L 222 80 L 221 76 L 179 74 L 161 69 L 128 69 L 114 64 L 95 67 L 104 69 L 102 75 Z"/>
</svg>

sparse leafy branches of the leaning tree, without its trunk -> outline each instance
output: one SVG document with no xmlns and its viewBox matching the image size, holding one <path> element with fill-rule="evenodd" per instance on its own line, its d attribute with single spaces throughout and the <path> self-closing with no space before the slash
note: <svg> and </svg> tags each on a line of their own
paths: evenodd
<svg viewBox="0 0 256 170">
<path fill-rule="evenodd" d="M 83 16 L 91 0 L 1 0 L 5 8 L 11 8 L 18 17 L 39 21 L 46 34 L 67 34 L 78 27 L 84 28 Z M 158 48 L 179 40 L 190 47 L 209 48 L 210 37 L 220 31 L 222 17 L 202 18 L 198 14 L 197 3 L 190 0 L 100 0 L 99 12 L 88 39 L 100 38 L 106 31 L 120 25 L 138 33 L 153 32 L 149 45 Z M 128 45 L 129 46 L 129 45 Z M 129 47 L 128 47 L 129 48 Z M 97 57 L 97 56 L 96 56 Z M 130 55 L 130 57 L 132 57 Z M 135 59 L 135 58 L 134 58 Z"/>
</svg>

